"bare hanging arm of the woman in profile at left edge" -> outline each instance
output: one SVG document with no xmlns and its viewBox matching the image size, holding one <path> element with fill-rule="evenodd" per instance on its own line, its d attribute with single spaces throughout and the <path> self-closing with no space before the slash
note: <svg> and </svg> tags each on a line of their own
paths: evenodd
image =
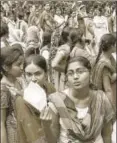
<svg viewBox="0 0 117 143">
<path fill-rule="evenodd" d="M 6 135 L 6 109 L 1 109 L 1 142 L 7 143 L 7 135 Z"/>
</svg>

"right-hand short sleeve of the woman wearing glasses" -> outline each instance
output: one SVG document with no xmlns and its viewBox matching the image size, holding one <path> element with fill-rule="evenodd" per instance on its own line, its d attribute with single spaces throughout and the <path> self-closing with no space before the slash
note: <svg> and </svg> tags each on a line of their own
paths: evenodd
<svg viewBox="0 0 117 143">
<path fill-rule="evenodd" d="M 108 123 L 111 120 L 115 119 L 115 112 L 112 103 L 109 101 L 108 97 L 104 94 L 103 96 L 103 105 L 105 110 L 104 123 Z"/>
</svg>

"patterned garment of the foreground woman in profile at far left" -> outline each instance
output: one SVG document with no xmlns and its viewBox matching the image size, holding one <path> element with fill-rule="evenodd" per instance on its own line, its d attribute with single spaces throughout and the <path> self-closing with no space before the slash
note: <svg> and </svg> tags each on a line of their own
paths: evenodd
<svg viewBox="0 0 117 143">
<path fill-rule="evenodd" d="M 6 109 L 5 127 L 8 143 L 19 143 L 15 106 L 16 98 L 18 95 L 12 91 L 12 88 L 13 86 L 10 83 L 1 81 L 1 110 Z M 17 88 L 15 89 L 22 90 L 19 81 L 17 81 Z"/>
</svg>

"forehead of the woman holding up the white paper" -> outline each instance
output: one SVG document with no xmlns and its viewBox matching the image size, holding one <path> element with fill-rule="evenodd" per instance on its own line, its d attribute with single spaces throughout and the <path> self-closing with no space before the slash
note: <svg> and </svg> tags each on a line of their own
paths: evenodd
<svg viewBox="0 0 117 143">
<path fill-rule="evenodd" d="M 30 64 L 28 64 L 25 68 L 25 72 L 29 72 L 29 73 L 35 73 L 35 72 L 42 72 L 43 69 L 39 66 L 37 66 L 36 64 L 34 64 L 33 62 L 31 62 Z"/>
</svg>

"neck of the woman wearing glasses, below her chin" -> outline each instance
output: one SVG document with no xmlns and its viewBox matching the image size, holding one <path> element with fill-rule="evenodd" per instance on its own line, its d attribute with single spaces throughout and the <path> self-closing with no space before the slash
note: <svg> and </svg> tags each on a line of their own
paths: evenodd
<svg viewBox="0 0 117 143">
<path fill-rule="evenodd" d="M 71 95 L 75 97 L 76 99 L 85 99 L 89 96 L 89 86 L 76 90 L 76 89 L 71 89 Z"/>
</svg>

